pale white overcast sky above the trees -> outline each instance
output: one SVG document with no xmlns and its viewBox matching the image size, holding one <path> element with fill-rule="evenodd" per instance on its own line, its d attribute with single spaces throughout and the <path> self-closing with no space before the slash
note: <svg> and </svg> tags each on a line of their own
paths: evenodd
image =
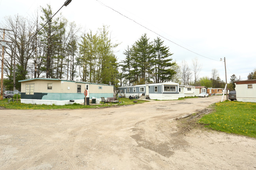
<svg viewBox="0 0 256 170">
<path fill-rule="evenodd" d="M 4 16 L 17 14 L 31 18 L 40 6 L 47 4 L 56 13 L 64 2 L 0 0 L 0 21 Z M 161 35 L 178 64 L 185 60 L 192 66 L 192 59 L 197 57 L 202 65 L 200 77 L 211 77 L 211 70 L 215 68 L 225 80 L 224 62 L 219 60 L 226 57 L 229 82 L 232 74 L 246 80 L 256 68 L 255 7 L 255 0 L 72 0 L 58 14 L 62 13 L 69 22 L 74 21 L 82 31 L 95 32 L 103 25 L 110 26 L 113 42 L 121 43 L 116 48 L 118 61 L 124 59 L 127 46 L 133 45 L 144 33 L 151 41 Z"/>
</svg>

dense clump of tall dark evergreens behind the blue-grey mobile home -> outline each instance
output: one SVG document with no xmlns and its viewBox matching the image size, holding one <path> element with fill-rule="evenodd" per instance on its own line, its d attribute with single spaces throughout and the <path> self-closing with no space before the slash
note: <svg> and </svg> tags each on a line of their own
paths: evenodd
<svg viewBox="0 0 256 170">
<path fill-rule="evenodd" d="M 121 86 L 168 82 L 176 74 L 172 69 L 175 64 L 171 62 L 172 53 L 159 37 L 150 42 L 144 34 L 123 54 L 125 60 L 121 63 L 121 77 L 124 79 L 120 82 Z"/>
</svg>

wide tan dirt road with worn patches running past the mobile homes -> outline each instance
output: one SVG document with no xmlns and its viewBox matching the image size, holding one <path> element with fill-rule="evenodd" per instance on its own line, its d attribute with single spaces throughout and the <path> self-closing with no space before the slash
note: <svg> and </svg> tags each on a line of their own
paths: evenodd
<svg viewBox="0 0 256 170">
<path fill-rule="evenodd" d="M 86 110 L 0 110 L 1 170 L 256 170 L 256 140 L 179 130 L 220 96 Z"/>
</svg>

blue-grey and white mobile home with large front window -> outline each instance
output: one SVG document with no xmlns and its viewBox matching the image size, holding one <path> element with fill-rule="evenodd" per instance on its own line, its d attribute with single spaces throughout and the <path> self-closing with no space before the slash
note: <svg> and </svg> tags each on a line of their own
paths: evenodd
<svg viewBox="0 0 256 170">
<path fill-rule="evenodd" d="M 155 84 L 142 84 L 136 86 L 123 86 L 122 90 L 125 97 L 131 96 L 149 96 L 150 99 L 157 100 L 177 100 L 179 98 L 179 84 L 175 82 L 163 82 Z M 122 95 L 122 93 L 120 93 Z"/>
</svg>

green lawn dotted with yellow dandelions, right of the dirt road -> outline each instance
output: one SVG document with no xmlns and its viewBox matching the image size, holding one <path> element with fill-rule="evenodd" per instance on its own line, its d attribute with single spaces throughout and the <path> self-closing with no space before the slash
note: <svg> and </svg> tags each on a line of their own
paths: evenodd
<svg viewBox="0 0 256 170">
<path fill-rule="evenodd" d="M 216 103 L 215 111 L 202 117 L 198 123 L 214 130 L 256 138 L 256 103 Z"/>
</svg>

